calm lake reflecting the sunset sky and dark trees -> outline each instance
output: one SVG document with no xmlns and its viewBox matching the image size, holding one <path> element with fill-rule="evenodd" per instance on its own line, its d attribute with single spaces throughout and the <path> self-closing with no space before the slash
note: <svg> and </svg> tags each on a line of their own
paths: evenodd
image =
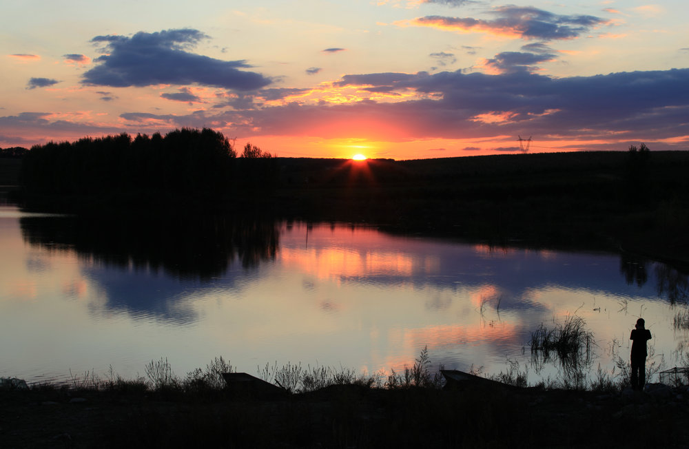
<svg viewBox="0 0 689 449">
<path fill-rule="evenodd" d="M 0 207 L 1 377 L 126 378 L 167 358 L 183 377 L 222 356 L 256 375 L 267 363 L 389 373 L 427 346 L 432 368 L 530 382 L 541 324 L 582 317 L 588 367 L 615 374 L 644 317 L 649 362 L 683 366 L 687 278 L 615 253 L 491 247 L 376 227 L 196 217 L 85 219 Z M 684 321 L 683 321 L 684 320 Z M 594 374 L 592 373 L 592 376 Z"/>
</svg>

